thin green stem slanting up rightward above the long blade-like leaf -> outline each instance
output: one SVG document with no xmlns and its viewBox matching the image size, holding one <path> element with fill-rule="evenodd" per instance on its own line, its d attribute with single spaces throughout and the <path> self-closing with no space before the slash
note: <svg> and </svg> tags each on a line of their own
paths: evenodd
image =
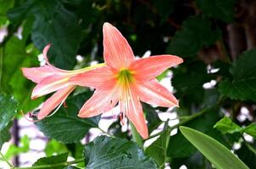
<svg viewBox="0 0 256 169">
<path fill-rule="evenodd" d="M 196 113 L 196 114 L 193 114 L 193 115 L 191 115 L 191 116 L 187 116 L 187 117 L 184 118 L 184 120 L 182 120 L 180 123 L 177 123 L 177 124 L 175 124 L 175 125 L 172 126 L 172 127 L 169 127 L 169 128 L 170 128 L 170 132 L 171 132 L 173 129 L 179 128 L 181 125 L 184 125 L 184 124 L 186 124 L 186 123 L 192 121 L 193 119 L 195 119 L 195 118 L 197 118 L 197 117 L 203 115 L 203 114 L 204 114 L 205 112 L 207 112 L 208 110 L 209 110 L 209 109 L 206 108 L 206 109 L 203 109 L 202 111 L 200 111 L 200 112 L 198 112 L 198 113 Z M 163 133 L 164 133 L 164 130 L 161 131 L 161 132 L 159 132 L 158 134 L 153 134 L 153 135 L 149 136 L 147 139 L 152 139 L 152 138 L 157 137 L 157 136 L 159 136 L 159 135 L 161 135 L 161 134 L 163 134 Z M 147 139 L 145 139 L 145 140 L 147 140 Z"/>
</svg>

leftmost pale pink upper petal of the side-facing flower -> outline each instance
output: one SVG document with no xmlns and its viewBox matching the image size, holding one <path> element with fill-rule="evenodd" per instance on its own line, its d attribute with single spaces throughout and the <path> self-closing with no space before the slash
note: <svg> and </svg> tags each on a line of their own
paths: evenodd
<svg viewBox="0 0 256 169">
<path fill-rule="evenodd" d="M 57 73 L 53 67 L 47 65 L 38 68 L 21 68 L 21 70 L 27 79 L 31 79 L 35 83 L 39 83 L 47 76 Z"/>
</svg>

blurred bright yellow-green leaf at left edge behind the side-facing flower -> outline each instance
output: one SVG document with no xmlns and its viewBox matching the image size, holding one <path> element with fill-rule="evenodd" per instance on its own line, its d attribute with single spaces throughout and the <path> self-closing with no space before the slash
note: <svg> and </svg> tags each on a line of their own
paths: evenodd
<svg viewBox="0 0 256 169">
<path fill-rule="evenodd" d="M 25 48 L 25 41 L 20 41 L 18 37 L 13 36 L 0 49 L 0 51 L 3 50 L 3 79 L 0 81 L 0 90 L 14 95 L 14 98 L 19 101 L 19 110 L 29 112 L 42 102 L 43 97 L 31 101 L 31 91 L 35 85 L 31 80 L 25 79 L 20 68 L 38 64 L 38 51 L 32 47 L 30 52 L 26 52 Z"/>
</svg>

